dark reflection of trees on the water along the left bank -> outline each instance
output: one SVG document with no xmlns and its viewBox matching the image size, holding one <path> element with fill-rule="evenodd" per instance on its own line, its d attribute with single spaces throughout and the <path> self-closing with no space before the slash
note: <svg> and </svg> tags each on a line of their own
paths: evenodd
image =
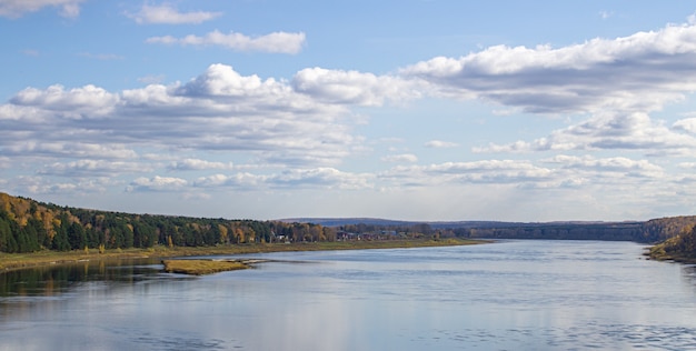
<svg viewBox="0 0 696 351">
<path fill-rule="evenodd" d="M 51 297 L 92 281 L 132 284 L 159 271 L 151 260 L 84 261 L 0 274 L 0 297 Z"/>
</svg>

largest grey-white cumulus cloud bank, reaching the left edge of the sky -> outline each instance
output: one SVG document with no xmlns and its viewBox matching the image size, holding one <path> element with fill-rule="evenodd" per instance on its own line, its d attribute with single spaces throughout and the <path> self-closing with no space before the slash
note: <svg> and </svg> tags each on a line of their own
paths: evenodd
<svg viewBox="0 0 696 351">
<path fill-rule="evenodd" d="M 136 150 L 243 152 L 255 162 L 324 166 L 359 149 L 346 107 L 284 81 L 212 64 L 186 83 L 109 92 L 95 86 L 27 88 L 0 104 L 4 156 L 136 159 Z M 173 169 L 228 169 L 183 160 Z"/>
</svg>

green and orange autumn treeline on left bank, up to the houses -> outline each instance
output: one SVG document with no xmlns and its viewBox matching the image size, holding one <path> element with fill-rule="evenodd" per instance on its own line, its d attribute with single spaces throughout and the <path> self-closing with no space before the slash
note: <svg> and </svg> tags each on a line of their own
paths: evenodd
<svg viewBox="0 0 696 351">
<path fill-rule="evenodd" d="M 0 193 L 0 252 L 334 240 L 335 229 L 311 223 L 107 212 Z"/>
</svg>

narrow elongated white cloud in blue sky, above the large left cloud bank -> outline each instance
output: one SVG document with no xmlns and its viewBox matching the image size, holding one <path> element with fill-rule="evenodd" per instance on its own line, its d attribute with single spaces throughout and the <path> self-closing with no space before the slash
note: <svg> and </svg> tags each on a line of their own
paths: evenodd
<svg viewBox="0 0 696 351">
<path fill-rule="evenodd" d="M 218 30 L 207 33 L 203 37 L 186 36 L 176 38 L 171 36 L 151 37 L 146 40 L 148 43 L 180 44 L 193 47 L 216 46 L 235 51 L 258 51 L 271 53 L 295 54 L 302 50 L 305 46 L 305 33 L 274 32 L 256 38 L 242 33 L 222 33 Z"/>
</svg>

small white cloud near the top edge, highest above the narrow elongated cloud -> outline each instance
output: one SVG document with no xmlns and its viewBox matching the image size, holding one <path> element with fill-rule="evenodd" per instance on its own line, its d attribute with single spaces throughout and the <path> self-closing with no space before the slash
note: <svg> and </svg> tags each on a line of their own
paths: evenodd
<svg viewBox="0 0 696 351">
<path fill-rule="evenodd" d="M 149 6 L 143 4 L 138 13 L 127 13 L 140 24 L 199 24 L 220 17 L 221 12 L 179 12 L 170 4 Z"/>
</svg>

